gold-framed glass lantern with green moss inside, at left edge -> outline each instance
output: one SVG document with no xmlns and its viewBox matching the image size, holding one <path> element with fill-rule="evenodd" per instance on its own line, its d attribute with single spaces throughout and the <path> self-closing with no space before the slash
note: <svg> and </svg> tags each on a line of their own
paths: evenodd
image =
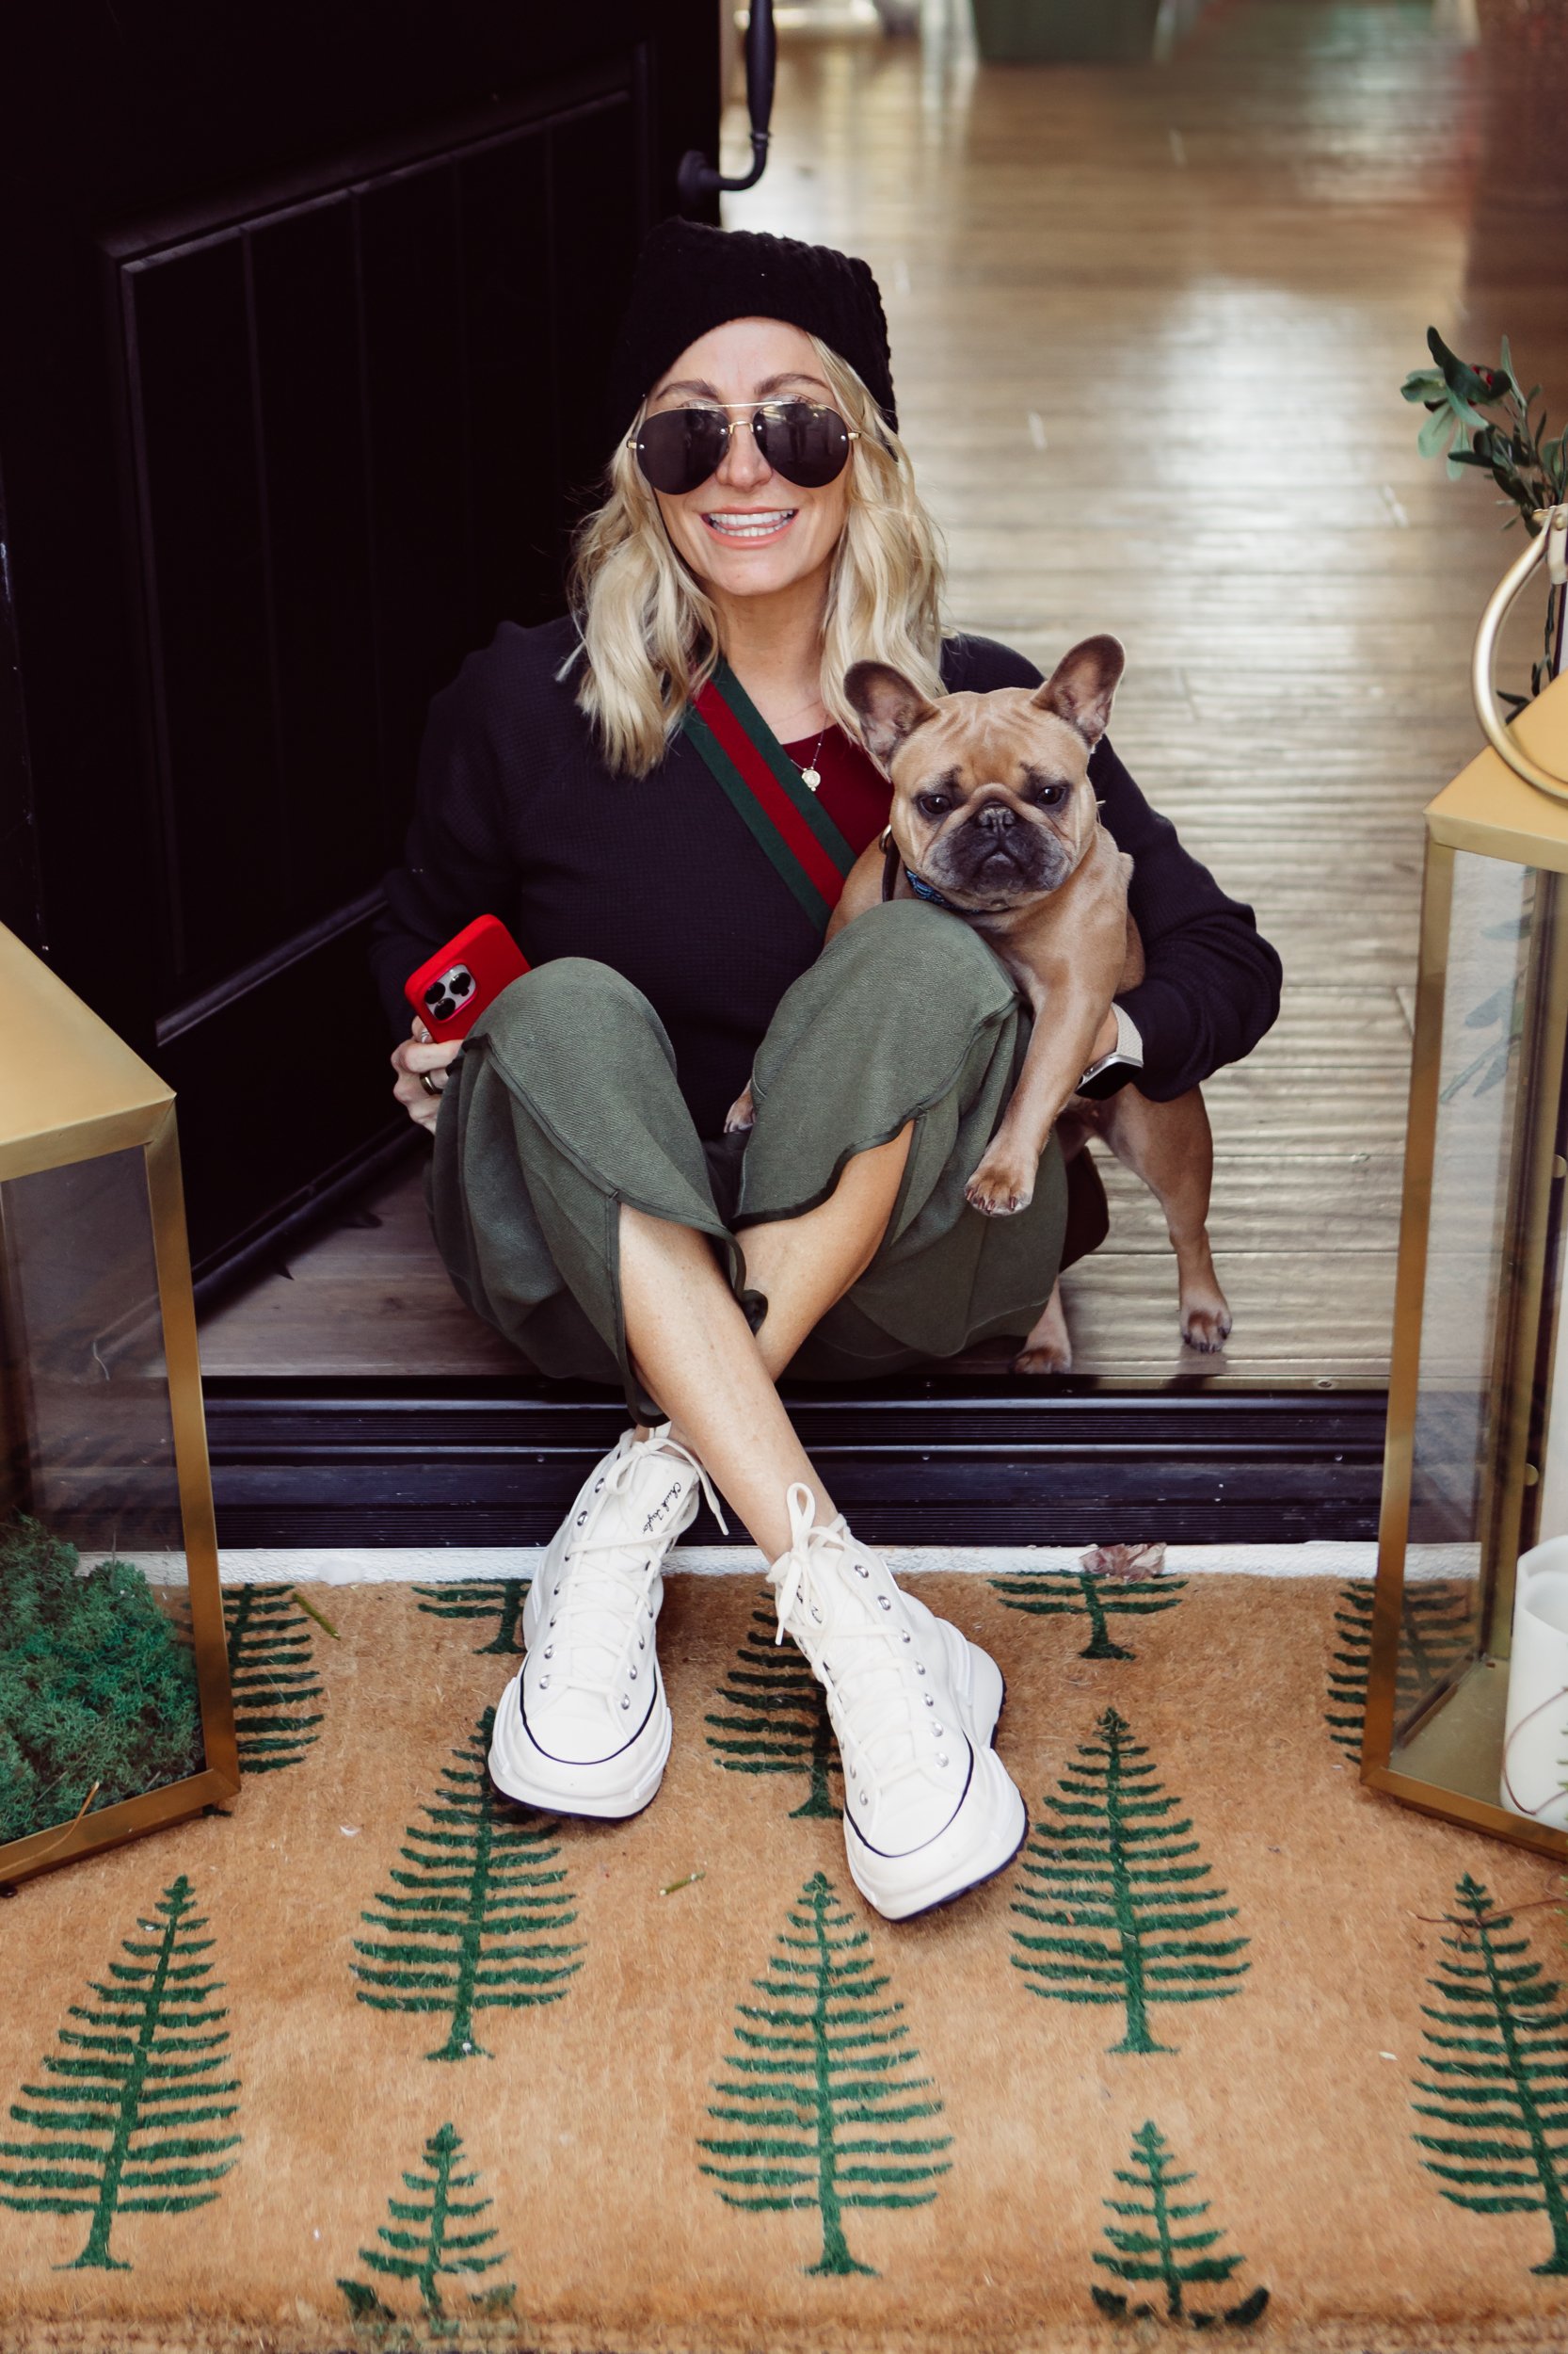
<svg viewBox="0 0 1568 2354">
<path fill-rule="evenodd" d="M 174 1097 L 0 927 L 0 1886 L 240 1787 Z"/>
</svg>

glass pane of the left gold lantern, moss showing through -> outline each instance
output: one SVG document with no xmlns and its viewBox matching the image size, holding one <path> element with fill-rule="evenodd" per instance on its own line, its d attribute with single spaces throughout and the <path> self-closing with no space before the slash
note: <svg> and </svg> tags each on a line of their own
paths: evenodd
<svg viewBox="0 0 1568 2354">
<path fill-rule="evenodd" d="M 0 1182 L 0 1846 L 202 1763 L 132 1149 Z"/>
</svg>

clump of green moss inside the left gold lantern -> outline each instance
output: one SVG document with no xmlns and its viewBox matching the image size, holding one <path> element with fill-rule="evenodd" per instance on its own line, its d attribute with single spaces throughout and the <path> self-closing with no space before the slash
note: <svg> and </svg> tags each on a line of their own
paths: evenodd
<svg viewBox="0 0 1568 2354">
<path fill-rule="evenodd" d="M 0 1846 L 200 1763 L 195 1660 L 141 1570 L 82 1577 L 38 1521 L 0 1528 Z"/>
</svg>

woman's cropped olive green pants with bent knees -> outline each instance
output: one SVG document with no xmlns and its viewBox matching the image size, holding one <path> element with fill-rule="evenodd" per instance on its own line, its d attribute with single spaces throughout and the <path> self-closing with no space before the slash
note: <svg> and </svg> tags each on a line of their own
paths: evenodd
<svg viewBox="0 0 1568 2354">
<path fill-rule="evenodd" d="M 982 1217 L 963 1186 L 1026 1043 L 986 944 L 942 909 L 890 902 L 782 998 L 756 1052 L 751 1132 L 704 1146 L 647 998 L 610 965 L 556 958 L 494 1000 L 452 1066 L 428 1191 L 440 1255 L 534 1372 L 619 1379 L 631 1412 L 657 1419 L 626 1354 L 619 1205 L 711 1236 L 756 1330 L 768 1302 L 746 1285 L 746 1226 L 812 1210 L 852 1153 L 913 1121 L 883 1243 L 791 1375 L 866 1379 L 1024 1335 L 1062 1257 L 1057 1144 L 1017 1217 Z"/>
</svg>

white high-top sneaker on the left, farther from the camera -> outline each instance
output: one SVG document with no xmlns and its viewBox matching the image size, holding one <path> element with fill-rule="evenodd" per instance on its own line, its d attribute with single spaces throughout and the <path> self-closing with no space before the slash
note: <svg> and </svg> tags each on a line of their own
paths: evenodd
<svg viewBox="0 0 1568 2354">
<path fill-rule="evenodd" d="M 659 1424 L 626 1431 L 582 1483 L 523 1605 L 523 1667 L 501 1693 L 490 1780 L 556 1815 L 638 1815 L 664 1777 L 671 1716 L 655 1648 L 664 1556 L 706 1492 Z"/>
</svg>

